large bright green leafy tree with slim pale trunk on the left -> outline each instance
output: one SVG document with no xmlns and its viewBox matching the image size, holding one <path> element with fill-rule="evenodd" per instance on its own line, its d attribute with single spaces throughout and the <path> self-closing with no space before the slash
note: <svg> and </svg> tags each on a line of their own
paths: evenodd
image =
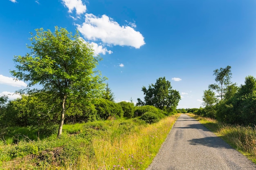
<svg viewBox="0 0 256 170">
<path fill-rule="evenodd" d="M 64 28 L 55 31 L 36 29 L 31 33 L 30 53 L 15 56 L 17 71 L 11 71 L 17 79 L 29 81 L 29 87 L 40 84 L 51 96 L 58 98 L 61 120 L 58 136 L 62 133 L 67 108 L 98 95 L 104 81 L 95 70 L 99 56 L 78 32 L 72 35 Z M 74 105 L 73 105 L 74 106 Z"/>
</svg>

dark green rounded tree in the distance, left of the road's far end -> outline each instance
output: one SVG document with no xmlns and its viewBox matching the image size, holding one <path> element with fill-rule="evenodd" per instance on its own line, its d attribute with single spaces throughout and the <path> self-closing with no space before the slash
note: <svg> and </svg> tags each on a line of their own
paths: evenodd
<svg viewBox="0 0 256 170">
<path fill-rule="evenodd" d="M 151 84 L 146 89 L 142 87 L 144 92 L 145 105 L 155 106 L 168 111 L 175 109 L 180 101 L 180 93 L 172 89 L 171 83 L 165 77 L 157 79 L 155 84 Z"/>
</svg>

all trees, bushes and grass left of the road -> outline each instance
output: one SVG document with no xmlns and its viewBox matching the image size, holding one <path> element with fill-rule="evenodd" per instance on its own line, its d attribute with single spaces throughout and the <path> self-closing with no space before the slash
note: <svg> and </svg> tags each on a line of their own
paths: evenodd
<svg viewBox="0 0 256 170">
<path fill-rule="evenodd" d="M 179 116 L 179 92 L 160 77 L 137 106 L 116 103 L 78 32 L 35 31 L 11 71 L 27 88 L 0 97 L 0 169 L 146 169 Z"/>
</svg>

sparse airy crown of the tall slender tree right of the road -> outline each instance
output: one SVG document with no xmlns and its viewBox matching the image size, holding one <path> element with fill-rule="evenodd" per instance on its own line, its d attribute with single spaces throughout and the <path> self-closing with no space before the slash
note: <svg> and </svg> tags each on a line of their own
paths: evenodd
<svg viewBox="0 0 256 170">
<path fill-rule="evenodd" d="M 215 81 L 217 84 L 210 84 L 209 88 L 215 90 L 218 93 L 218 97 L 222 100 L 224 98 L 225 92 L 227 91 L 227 86 L 231 84 L 231 66 L 226 68 L 220 68 L 213 71 L 215 75 Z"/>
</svg>

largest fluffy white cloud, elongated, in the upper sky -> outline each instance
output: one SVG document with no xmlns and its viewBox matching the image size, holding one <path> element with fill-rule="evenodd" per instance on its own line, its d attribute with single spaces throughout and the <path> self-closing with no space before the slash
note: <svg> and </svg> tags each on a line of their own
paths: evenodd
<svg viewBox="0 0 256 170">
<path fill-rule="evenodd" d="M 109 45 L 133 46 L 139 49 L 145 44 L 144 37 L 139 31 L 130 26 L 120 26 L 107 15 L 97 17 L 85 14 L 85 22 L 77 24 L 77 29 L 88 40 L 101 40 Z"/>
</svg>

